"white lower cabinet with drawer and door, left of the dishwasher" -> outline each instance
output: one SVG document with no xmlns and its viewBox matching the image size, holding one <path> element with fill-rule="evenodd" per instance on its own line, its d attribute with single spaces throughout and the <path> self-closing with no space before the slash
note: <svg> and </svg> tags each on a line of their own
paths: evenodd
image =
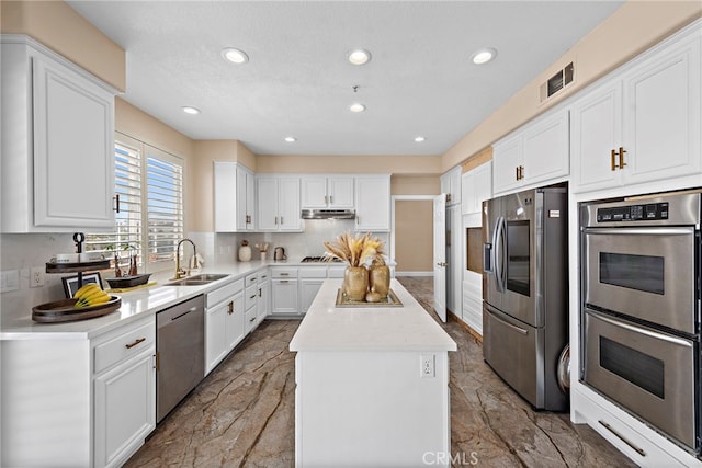
<svg viewBox="0 0 702 468">
<path fill-rule="evenodd" d="M 122 466 L 156 427 L 155 354 L 154 316 L 95 340 L 94 466 Z"/>
</svg>

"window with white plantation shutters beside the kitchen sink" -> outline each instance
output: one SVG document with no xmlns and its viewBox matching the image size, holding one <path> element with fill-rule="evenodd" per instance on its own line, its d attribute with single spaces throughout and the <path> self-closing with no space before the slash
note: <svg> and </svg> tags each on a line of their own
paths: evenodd
<svg viewBox="0 0 702 468">
<path fill-rule="evenodd" d="M 173 266 L 184 232 L 182 159 L 116 133 L 114 161 L 115 231 L 88 235 L 87 250 L 116 255 L 123 272 L 131 255 L 141 273 Z"/>
</svg>

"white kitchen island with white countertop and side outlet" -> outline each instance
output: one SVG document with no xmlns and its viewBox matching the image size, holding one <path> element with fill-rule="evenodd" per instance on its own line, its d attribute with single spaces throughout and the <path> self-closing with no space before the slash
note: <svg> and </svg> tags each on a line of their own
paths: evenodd
<svg viewBox="0 0 702 468">
<path fill-rule="evenodd" d="M 396 281 L 401 307 L 337 307 L 327 279 L 291 341 L 295 465 L 448 466 L 456 343 Z"/>
</svg>

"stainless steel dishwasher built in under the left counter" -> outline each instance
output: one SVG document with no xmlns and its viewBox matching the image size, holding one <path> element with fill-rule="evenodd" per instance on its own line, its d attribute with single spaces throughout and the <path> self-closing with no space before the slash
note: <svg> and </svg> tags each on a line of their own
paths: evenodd
<svg viewBox="0 0 702 468">
<path fill-rule="evenodd" d="M 156 422 L 205 376 L 205 299 L 197 296 L 156 316 Z"/>
</svg>

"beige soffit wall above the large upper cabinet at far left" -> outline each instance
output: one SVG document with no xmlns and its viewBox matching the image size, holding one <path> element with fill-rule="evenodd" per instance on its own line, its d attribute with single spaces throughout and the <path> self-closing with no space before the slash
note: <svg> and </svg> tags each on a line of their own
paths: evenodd
<svg viewBox="0 0 702 468">
<path fill-rule="evenodd" d="M 63 1 L 3 0 L 0 16 L 3 34 L 26 34 L 118 91 L 126 89 L 124 50 Z"/>
</svg>

